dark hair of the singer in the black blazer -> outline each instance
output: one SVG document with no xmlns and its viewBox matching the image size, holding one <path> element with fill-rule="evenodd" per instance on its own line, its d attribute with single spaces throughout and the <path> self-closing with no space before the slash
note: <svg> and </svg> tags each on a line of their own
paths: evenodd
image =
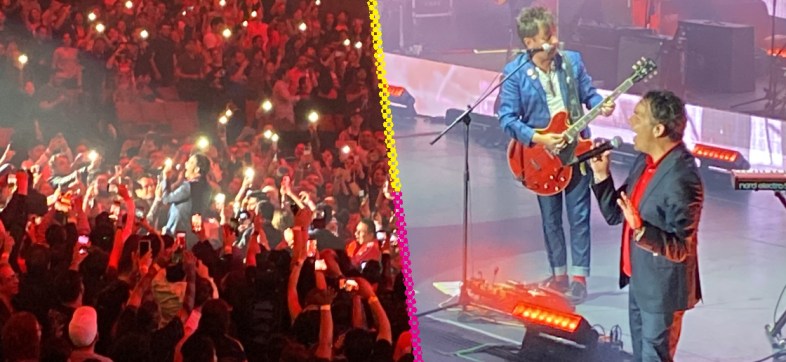
<svg viewBox="0 0 786 362">
<path fill-rule="evenodd" d="M 666 128 L 666 136 L 672 141 L 681 141 L 688 122 L 682 99 L 670 91 L 653 90 L 645 94 L 642 101 L 649 104 L 652 118 Z"/>
</svg>

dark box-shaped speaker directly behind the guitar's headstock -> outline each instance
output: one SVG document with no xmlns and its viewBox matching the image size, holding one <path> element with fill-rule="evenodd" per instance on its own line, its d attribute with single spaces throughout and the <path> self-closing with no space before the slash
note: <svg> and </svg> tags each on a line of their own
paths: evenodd
<svg viewBox="0 0 786 362">
<path fill-rule="evenodd" d="M 652 59 L 658 65 L 658 73 L 647 82 L 639 82 L 628 93 L 644 94 L 652 89 L 664 88 L 664 72 L 668 61 L 671 39 L 660 35 L 623 35 L 617 48 L 617 84 L 630 77 L 633 64 L 642 57 Z"/>
</svg>

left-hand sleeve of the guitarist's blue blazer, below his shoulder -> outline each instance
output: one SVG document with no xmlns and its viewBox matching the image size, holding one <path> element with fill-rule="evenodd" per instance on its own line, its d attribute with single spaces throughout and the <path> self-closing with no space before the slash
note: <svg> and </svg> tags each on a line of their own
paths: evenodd
<svg viewBox="0 0 786 362">
<path fill-rule="evenodd" d="M 503 76 L 507 77 L 516 66 L 517 64 L 511 63 L 505 67 Z M 531 145 L 535 130 L 520 120 L 523 113 L 520 83 L 521 72 L 517 72 L 502 85 L 499 93 L 499 125 L 505 134 L 516 141 Z"/>
</svg>

